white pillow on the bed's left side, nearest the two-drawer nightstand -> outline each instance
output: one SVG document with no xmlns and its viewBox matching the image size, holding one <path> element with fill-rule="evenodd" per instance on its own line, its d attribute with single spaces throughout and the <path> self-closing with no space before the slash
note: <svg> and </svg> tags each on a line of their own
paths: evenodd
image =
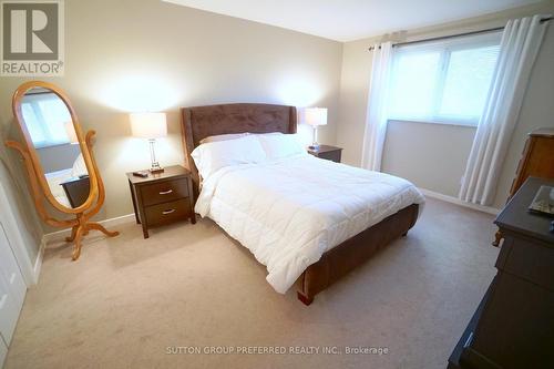
<svg viewBox="0 0 554 369">
<path fill-rule="evenodd" d="M 191 156 L 203 178 L 207 178 L 224 166 L 261 163 L 266 160 L 261 144 L 252 135 L 202 144 L 191 153 Z"/>
</svg>

